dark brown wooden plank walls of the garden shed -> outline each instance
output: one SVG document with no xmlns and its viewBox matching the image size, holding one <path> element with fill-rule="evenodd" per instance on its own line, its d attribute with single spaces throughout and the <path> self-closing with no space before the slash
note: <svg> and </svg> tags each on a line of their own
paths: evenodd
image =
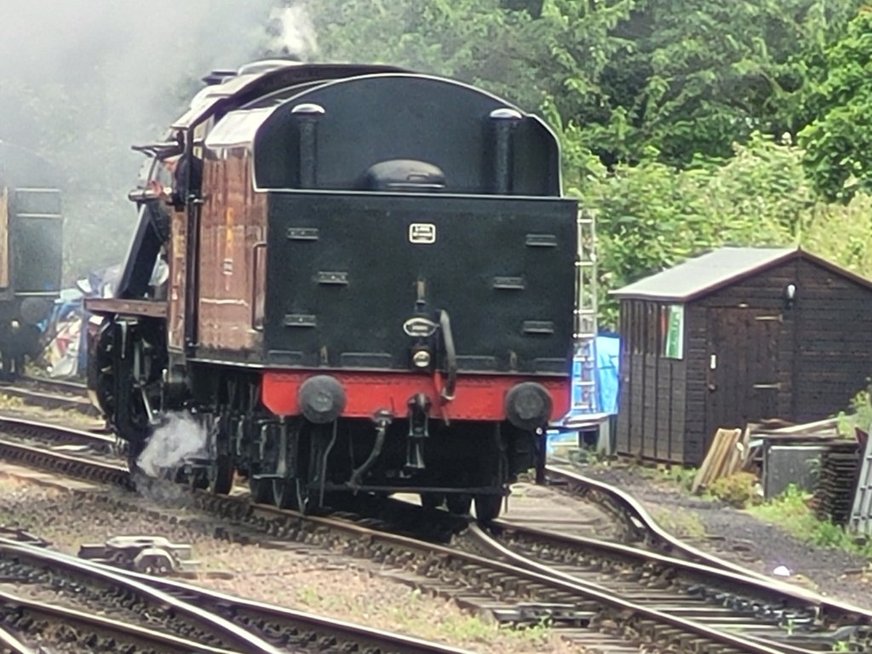
<svg viewBox="0 0 872 654">
<path fill-rule="evenodd" d="M 793 304 L 789 284 L 796 285 Z M 650 352 L 650 343 L 662 338 L 652 316 L 669 304 L 621 301 L 621 453 L 699 465 L 717 428 L 762 418 L 820 419 L 845 408 L 872 375 L 872 289 L 801 255 L 685 304 L 683 360 Z M 743 325 L 744 343 L 730 342 L 732 323 L 717 322 L 727 319 Z M 745 388 L 729 388 L 723 378 L 712 384 L 709 358 L 717 353 L 720 365 L 729 348 L 743 374 L 763 358 L 773 361 L 771 379 L 757 381 L 777 388 L 754 389 L 750 374 Z M 754 401 L 719 418 L 715 392 L 724 407 L 749 394 Z M 765 406 L 767 414 L 756 415 L 754 406 Z"/>
</svg>

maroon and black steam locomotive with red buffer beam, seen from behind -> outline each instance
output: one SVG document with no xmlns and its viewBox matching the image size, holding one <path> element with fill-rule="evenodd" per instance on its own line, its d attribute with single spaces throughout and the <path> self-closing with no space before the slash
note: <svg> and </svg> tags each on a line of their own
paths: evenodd
<svg viewBox="0 0 872 654">
<path fill-rule="evenodd" d="M 576 203 L 537 117 L 375 65 L 217 72 L 132 194 L 89 389 L 135 463 L 205 430 L 195 486 L 301 511 L 412 492 L 480 520 L 569 404 Z"/>
</svg>

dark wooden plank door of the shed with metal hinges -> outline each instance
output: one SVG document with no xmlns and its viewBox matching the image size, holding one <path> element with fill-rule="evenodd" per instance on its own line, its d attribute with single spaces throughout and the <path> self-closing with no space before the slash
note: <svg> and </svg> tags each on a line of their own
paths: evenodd
<svg viewBox="0 0 872 654">
<path fill-rule="evenodd" d="M 708 319 L 706 441 L 720 427 L 778 417 L 782 315 L 762 309 L 711 308 Z"/>
</svg>

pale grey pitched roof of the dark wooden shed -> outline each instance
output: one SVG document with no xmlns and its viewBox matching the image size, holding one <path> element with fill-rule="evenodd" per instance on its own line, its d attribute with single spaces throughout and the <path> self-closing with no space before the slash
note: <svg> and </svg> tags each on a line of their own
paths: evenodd
<svg viewBox="0 0 872 654">
<path fill-rule="evenodd" d="M 872 289 L 872 280 L 821 259 L 801 248 L 725 247 L 673 266 L 612 291 L 622 299 L 688 302 L 794 258 L 808 259 Z"/>
</svg>

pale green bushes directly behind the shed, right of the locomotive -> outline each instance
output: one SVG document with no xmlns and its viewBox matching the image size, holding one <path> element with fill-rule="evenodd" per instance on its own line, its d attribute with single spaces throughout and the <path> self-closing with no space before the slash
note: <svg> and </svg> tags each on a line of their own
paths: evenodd
<svg viewBox="0 0 872 654">
<path fill-rule="evenodd" d="M 721 245 L 790 245 L 814 205 L 801 153 L 754 137 L 722 166 L 678 170 L 655 160 L 588 179 L 584 197 L 600 237 L 602 318 L 616 324 L 608 289 Z"/>
</svg>

